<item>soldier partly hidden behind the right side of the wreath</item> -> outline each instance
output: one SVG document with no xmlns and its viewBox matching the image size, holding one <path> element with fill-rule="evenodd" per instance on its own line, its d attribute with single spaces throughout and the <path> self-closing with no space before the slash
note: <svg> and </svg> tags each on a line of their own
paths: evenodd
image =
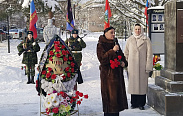
<svg viewBox="0 0 183 116">
<path fill-rule="evenodd" d="M 86 47 L 86 43 L 78 36 L 78 30 L 72 30 L 72 36 L 65 41 L 72 51 L 77 65 L 80 67 L 82 60 L 82 49 Z"/>
</svg>

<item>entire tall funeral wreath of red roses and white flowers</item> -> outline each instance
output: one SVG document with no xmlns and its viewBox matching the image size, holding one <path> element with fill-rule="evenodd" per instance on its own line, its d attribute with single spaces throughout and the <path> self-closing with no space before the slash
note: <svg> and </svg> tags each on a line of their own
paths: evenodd
<svg viewBox="0 0 183 116">
<path fill-rule="evenodd" d="M 78 67 L 66 46 L 60 41 L 54 41 L 39 74 L 41 81 L 36 81 L 36 89 L 40 84 L 46 93 L 43 106 L 47 114 L 70 115 L 76 104 L 80 105 L 83 98 L 88 98 L 88 95 L 74 90 L 77 71 Z"/>
</svg>

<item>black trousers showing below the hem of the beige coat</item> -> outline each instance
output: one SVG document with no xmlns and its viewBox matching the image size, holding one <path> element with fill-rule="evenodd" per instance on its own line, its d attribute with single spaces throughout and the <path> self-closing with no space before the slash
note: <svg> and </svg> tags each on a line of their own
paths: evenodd
<svg viewBox="0 0 183 116">
<path fill-rule="evenodd" d="M 131 94 L 131 104 L 133 107 L 142 107 L 146 104 L 146 94 L 145 95 L 135 95 Z"/>
</svg>

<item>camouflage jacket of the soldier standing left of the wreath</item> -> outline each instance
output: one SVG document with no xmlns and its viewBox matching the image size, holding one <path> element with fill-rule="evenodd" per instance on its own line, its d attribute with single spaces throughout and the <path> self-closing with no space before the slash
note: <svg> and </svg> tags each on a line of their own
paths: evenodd
<svg viewBox="0 0 183 116">
<path fill-rule="evenodd" d="M 26 47 L 25 47 L 26 46 Z M 17 49 L 19 54 L 23 53 L 23 64 L 37 64 L 37 53 L 40 51 L 40 46 L 37 42 L 29 40 L 23 40 L 18 46 Z"/>
</svg>

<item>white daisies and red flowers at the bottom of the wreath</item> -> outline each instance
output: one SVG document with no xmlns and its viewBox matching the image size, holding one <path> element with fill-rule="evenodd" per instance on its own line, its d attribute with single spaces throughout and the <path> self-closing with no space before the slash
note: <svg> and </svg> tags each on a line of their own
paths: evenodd
<svg viewBox="0 0 183 116">
<path fill-rule="evenodd" d="M 83 95 L 79 91 L 76 91 L 74 95 L 68 95 L 61 91 L 48 94 L 43 106 L 46 108 L 46 114 L 53 113 L 53 116 L 66 116 L 70 115 L 70 111 L 74 110 L 72 103 L 75 102 L 80 105 L 83 98 L 88 99 L 88 95 Z"/>
</svg>

